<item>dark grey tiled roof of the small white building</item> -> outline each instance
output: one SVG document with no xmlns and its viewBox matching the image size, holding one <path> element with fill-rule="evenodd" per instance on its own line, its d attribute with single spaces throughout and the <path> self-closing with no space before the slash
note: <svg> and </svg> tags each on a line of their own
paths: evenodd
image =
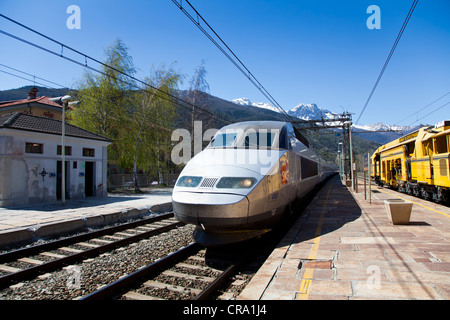
<svg viewBox="0 0 450 320">
<path fill-rule="evenodd" d="M 20 112 L 14 112 L 0 116 L 0 129 L 2 128 L 61 135 L 62 121 L 45 117 L 33 116 L 30 114 Z M 65 129 L 66 129 L 66 136 L 69 137 L 92 139 L 107 142 L 111 141 L 108 138 L 105 138 L 103 136 L 81 129 L 68 123 L 65 124 Z"/>
</svg>

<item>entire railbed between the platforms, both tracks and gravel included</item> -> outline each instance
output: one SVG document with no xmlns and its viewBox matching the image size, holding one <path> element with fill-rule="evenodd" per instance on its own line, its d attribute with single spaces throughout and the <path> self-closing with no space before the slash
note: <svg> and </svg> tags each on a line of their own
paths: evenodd
<svg viewBox="0 0 450 320">
<path fill-rule="evenodd" d="M 193 226 L 163 214 L 3 253 L 0 300 L 235 299 L 289 225 L 245 245 L 206 249 L 193 243 Z"/>
</svg>

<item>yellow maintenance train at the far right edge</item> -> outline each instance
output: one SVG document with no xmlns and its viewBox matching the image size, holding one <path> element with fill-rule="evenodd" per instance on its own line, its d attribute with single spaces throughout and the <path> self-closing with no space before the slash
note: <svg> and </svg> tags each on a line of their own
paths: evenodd
<svg viewBox="0 0 450 320">
<path fill-rule="evenodd" d="M 450 121 L 422 127 L 379 147 L 371 176 L 381 186 L 449 204 Z"/>
</svg>

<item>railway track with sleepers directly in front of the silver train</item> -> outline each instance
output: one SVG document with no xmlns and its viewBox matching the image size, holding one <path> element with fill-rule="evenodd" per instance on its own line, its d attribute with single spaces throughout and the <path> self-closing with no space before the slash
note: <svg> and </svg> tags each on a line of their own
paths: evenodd
<svg viewBox="0 0 450 320">
<path fill-rule="evenodd" d="M 233 298 L 231 291 L 218 292 L 227 283 L 231 283 L 231 287 L 245 284 L 245 276 L 236 277 L 244 256 L 248 255 L 221 250 L 214 257 L 207 257 L 205 248 L 191 243 L 82 300 L 206 300 L 217 296 L 219 299 L 230 299 Z M 207 266 L 208 262 L 216 267 Z"/>
</svg>

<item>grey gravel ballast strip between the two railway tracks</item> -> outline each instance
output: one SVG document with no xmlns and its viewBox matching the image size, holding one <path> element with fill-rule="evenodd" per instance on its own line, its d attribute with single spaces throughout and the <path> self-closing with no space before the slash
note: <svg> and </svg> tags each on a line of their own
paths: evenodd
<svg viewBox="0 0 450 320">
<path fill-rule="evenodd" d="M 123 248 L 41 275 L 0 291 L 0 300 L 71 300 L 85 296 L 192 243 L 186 225 Z"/>
</svg>

